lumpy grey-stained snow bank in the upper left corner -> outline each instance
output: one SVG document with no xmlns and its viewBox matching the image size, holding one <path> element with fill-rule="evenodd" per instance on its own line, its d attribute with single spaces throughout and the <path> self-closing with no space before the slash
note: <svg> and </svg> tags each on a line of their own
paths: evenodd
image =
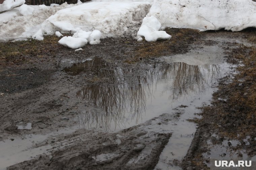
<svg viewBox="0 0 256 170">
<path fill-rule="evenodd" d="M 21 16 L 19 11 L 20 7 L 0 13 L 0 41 L 26 40 L 33 35 L 37 35 L 37 38 L 42 40 L 42 37 L 39 37 L 42 35 L 36 34 L 40 29 L 41 23 L 51 15 L 54 15 L 58 10 L 72 6 L 74 6 L 74 4 L 67 3 L 52 7 L 45 5 L 29 5 L 29 7 L 34 8 L 34 11 L 31 15 L 27 16 Z"/>
</svg>

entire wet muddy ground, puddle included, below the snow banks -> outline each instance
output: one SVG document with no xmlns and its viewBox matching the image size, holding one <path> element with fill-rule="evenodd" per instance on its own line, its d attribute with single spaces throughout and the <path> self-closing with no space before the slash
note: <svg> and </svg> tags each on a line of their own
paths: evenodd
<svg viewBox="0 0 256 170">
<path fill-rule="evenodd" d="M 54 36 L 1 43 L 0 169 L 207 169 L 211 154 L 255 156 L 255 31 L 166 32 L 77 52 Z"/>
</svg>

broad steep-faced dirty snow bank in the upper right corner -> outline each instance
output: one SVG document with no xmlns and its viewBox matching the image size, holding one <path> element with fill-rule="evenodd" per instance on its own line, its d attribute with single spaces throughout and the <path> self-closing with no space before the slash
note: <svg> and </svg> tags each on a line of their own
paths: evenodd
<svg viewBox="0 0 256 170">
<path fill-rule="evenodd" d="M 241 31 L 256 27 L 255 11 L 252 0 L 155 0 L 147 16 L 163 26 Z"/>
</svg>

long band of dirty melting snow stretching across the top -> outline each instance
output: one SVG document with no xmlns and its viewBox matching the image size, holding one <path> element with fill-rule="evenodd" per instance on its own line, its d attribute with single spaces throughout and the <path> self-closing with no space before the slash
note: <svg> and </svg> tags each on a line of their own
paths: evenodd
<svg viewBox="0 0 256 170">
<path fill-rule="evenodd" d="M 140 37 L 147 41 L 169 39 L 165 32 L 153 29 L 159 23 L 163 27 L 189 27 L 202 31 L 222 28 L 240 31 L 256 27 L 256 3 L 251 0 L 93 0 L 87 3 L 78 0 L 77 4 L 51 6 L 22 5 L 24 2 L 5 0 L 0 4 L 0 12 L 4 11 L 0 13 L 0 41 L 43 40 L 43 35 L 53 35 L 56 31 L 74 34 L 79 30 L 99 30 L 101 38 L 135 37 L 137 24 L 146 15 L 148 23 L 153 24 L 142 24 L 137 40 Z M 96 43 L 99 41 L 94 40 L 90 44 Z"/>
</svg>

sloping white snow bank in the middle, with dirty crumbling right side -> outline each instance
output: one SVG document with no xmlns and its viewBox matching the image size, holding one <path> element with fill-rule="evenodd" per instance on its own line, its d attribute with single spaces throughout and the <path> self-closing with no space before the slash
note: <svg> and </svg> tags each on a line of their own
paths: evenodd
<svg viewBox="0 0 256 170">
<path fill-rule="evenodd" d="M 41 24 L 44 34 L 56 31 L 75 33 L 99 30 L 103 37 L 119 37 L 129 32 L 148 12 L 149 2 L 89 2 L 59 10 Z"/>
</svg>

